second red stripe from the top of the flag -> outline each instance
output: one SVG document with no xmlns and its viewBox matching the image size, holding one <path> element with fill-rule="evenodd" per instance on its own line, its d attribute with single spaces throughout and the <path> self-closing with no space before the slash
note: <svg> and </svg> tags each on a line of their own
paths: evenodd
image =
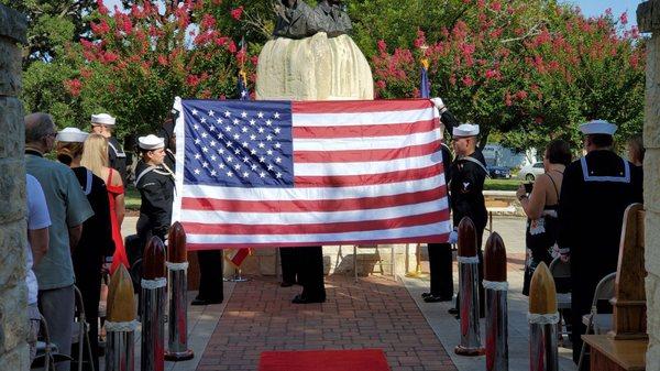
<svg viewBox="0 0 660 371">
<path fill-rule="evenodd" d="M 306 127 L 296 122 L 294 138 L 371 138 L 422 133 L 439 128 L 440 120 L 422 120 L 407 123 L 385 123 L 376 126 Z"/>
</svg>

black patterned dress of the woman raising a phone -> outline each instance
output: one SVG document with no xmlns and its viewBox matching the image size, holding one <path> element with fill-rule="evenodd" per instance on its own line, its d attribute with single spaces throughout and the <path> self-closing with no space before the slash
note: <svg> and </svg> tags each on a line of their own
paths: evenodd
<svg viewBox="0 0 660 371">
<path fill-rule="evenodd" d="M 559 189 L 557 188 L 557 184 L 551 176 L 548 175 L 548 177 L 554 185 L 557 199 L 559 199 Z M 559 229 L 558 210 L 559 204 L 546 205 L 540 218 L 536 220 L 527 219 L 527 227 L 525 228 L 525 244 L 527 245 L 528 258 L 525 262 L 522 295 L 529 296 L 529 284 L 531 283 L 531 276 L 534 275 L 536 268 L 541 262 L 546 263 L 548 266 L 550 266 L 550 262 L 552 262 L 552 248 L 557 242 L 557 233 Z M 565 292 L 566 287 L 558 286 L 557 291 Z"/>
</svg>

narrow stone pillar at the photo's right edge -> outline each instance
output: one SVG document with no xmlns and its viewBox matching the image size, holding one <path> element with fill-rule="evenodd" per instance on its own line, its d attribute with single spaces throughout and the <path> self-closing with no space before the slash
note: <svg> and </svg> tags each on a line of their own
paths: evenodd
<svg viewBox="0 0 660 371">
<path fill-rule="evenodd" d="M 637 8 L 639 31 L 652 33 L 647 42 L 646 107 L 644 118 L 644 204 L 646 209 L 645 262 L 647 370 L 660 370 L 660 0 Z"/>
</svg>

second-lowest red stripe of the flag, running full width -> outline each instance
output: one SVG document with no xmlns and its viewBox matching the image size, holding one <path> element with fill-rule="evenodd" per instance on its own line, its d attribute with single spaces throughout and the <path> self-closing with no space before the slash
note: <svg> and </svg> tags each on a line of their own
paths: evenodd
<svg viewBox="0 0 660 371">
<path fill-rule="evenodd" d="M 449 209 L 382 220 L 323 222 L 309 225 L 233 225 L 184 222 L 189 234 L 317 234 L 384 230 L 430 225 L 447 220 Z"/>
</svg>

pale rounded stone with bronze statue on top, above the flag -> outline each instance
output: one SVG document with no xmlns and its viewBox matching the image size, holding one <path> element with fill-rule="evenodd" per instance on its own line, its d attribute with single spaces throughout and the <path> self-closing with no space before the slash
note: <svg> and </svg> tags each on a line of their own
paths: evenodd
<svg viewBox="0 0 660 371">
<path fill-rule="evenodd" d="M 371 68 L 351 30 L 338 0 L 316 8 L 278 0 L 274 39 L 258 56 L 256 99 L 373 99 Z"/>
</svg>

